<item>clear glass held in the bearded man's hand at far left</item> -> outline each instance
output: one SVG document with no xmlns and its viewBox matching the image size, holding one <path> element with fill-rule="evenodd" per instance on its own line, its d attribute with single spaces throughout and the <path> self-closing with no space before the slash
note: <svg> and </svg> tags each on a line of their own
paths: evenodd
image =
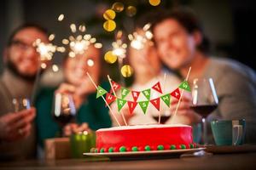
<svg viewBox="0 0 256 170">
<path fill-rule="evenodd" d="M 12 104 L 15 112 L 31 108 L 30 99 L 27 99 L 27 98 L 14 98 L 12 100 Z"/>
</svg>

